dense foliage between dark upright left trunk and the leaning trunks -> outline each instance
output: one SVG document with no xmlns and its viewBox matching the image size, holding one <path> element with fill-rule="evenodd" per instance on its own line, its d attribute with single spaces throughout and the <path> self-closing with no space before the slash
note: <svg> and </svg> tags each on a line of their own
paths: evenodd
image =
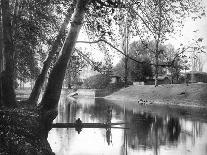
<svg viewBox="0 0 207 155">
<path fill-rule="evenodd" d="M 60 11 L 69 2 L 12 1 L 12 34 L 15 47 L 16 78 L 25 81 L 36 79 L 44 61 L 45 46 L 51 46 L 61 21 Z"/>
</svg>

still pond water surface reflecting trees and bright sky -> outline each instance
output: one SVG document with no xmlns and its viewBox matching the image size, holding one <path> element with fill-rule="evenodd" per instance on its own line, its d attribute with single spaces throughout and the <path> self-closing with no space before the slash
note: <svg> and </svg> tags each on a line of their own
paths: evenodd
<svg viewBox="0 0 207 155">
<path fill-rule="evenodd" d="M 123 103 L 124 104 L 124 103 Z M 108 106 L 113 107 L 112 122 L 126 121 L 130 129 L 52 129 L 48 141 L 57 155 L 206 155 L 207 124 L 126 110 L 103 99 L 62 97 L 54 122 L 106 122 Z M 136 111 L 136 112 L 135 112 Z M 108 133 L 109 134 L 109 133 Z M 107 139 L 108 138 L 108 139 Z M 110 139 L 109 139 L 110 138 Z"/>
</svg>

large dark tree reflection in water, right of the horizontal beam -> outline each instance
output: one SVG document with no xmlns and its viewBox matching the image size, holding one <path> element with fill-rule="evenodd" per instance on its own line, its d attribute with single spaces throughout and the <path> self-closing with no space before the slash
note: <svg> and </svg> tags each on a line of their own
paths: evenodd
<svg viewBox="0 0 207 155">
<path fill-rule="evenodd" d="M 153 148 L 155 154 L 161 145 L 169 142 L 176 143 L 181 132 L 178 118 L 153 116 L 150 114 L 132 114 L 130 117 L 130 130 L 128 131 L 128 145 L 132 149 Z"/>
</svg>

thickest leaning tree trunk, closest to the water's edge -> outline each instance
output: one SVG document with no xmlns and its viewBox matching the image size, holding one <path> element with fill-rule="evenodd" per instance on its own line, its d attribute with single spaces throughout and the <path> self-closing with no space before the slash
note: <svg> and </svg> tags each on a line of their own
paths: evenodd
<svg viewBox="0 0 207 155">
<path fill-rule="evenodd" d="M 41 103 L 39 104 L 41 111 L 57 109 L 67 64 L 80 32 L 88 3 L 89 0 L 77 1 L 70 30 L 61 50 L 61 55 L 50 73 L 45 93 Z"/>
</svg>

